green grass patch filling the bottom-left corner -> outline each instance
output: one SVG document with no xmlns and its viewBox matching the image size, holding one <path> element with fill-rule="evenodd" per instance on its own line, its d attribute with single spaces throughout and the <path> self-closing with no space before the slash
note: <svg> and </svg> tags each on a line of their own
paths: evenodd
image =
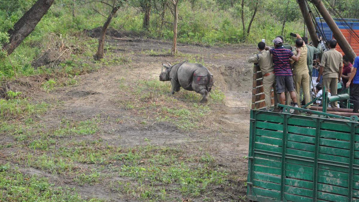
<svg viewBox="0 0 359 202">
<path fill-rule="evenodd" d="M 0 164 L 0 201 L 85 201 L 75 189 L 56 187 L 46 178 Z"/>
</svg>

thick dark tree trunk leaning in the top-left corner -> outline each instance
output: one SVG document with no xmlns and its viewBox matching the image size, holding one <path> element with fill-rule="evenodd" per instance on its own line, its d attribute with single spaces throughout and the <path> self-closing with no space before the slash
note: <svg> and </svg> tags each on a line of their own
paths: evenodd
<svg viewBox="0 0 359 202">
<path fill-rule="evenodd" d="M 34 31 L 37 23 L 45 15 L 54 0 L 38 0 L 8 31 L 10 42 L 3 44 L 4 50 L 10 55 L 20 43 Z"/>
</svg>

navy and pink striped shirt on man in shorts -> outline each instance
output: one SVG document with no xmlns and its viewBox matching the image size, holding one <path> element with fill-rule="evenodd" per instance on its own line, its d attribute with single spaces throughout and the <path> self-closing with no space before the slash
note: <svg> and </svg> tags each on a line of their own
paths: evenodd
<svg viewBox="0 0 359 202">
<path fill-rule="evenodd" d="M 294 54 L 283 46 L 270 50 L 273 55 L 273 66 L 275 75 L 278 77 L 292 76 L 292 68 L 290 67 L 289 59 Z"/>
</svg>

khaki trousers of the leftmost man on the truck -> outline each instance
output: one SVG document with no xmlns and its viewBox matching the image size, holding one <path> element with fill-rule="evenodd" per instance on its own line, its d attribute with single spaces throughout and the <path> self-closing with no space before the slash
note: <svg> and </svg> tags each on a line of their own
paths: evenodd
<svg viewBox="0 0 359 202">
<path fill-rule="evenodd" d="M 277 107 L 278 95 L 275 84 L 275 74 L 263 77 L 263 92 L 265 97 L 266 110 L 270 110 L 270 108 L 272 107 L 272 88 L 274 90 L 274 108 Z"/>
</svg>

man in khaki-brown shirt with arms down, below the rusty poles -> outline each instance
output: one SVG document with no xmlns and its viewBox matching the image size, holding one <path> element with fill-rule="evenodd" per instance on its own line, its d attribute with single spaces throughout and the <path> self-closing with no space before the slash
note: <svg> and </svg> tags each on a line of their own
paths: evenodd
<svg viewBox="0 0 359 202">
<path fill-rule="evenodd" d="M 337 41 L 334 38 L 328 42 L 330 49 L 323 53 L 317 82 L 320 81 L 320 76 L 323 74 L 322 86 L 325 87 L 325 91 L 328 92 L 330 88 L 331 95 L 336 95 L 338 81 L 340 81 L 343 71 L 343 56 L 335 49 Z M 330 105 L 337 107 L 337 102 L 331 102 Z"/>
</svg>

